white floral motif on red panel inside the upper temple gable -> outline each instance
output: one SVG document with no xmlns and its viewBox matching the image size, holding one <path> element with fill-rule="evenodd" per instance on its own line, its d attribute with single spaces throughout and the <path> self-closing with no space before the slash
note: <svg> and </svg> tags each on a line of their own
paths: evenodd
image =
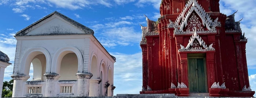
<svg viewBox="0 0 256 98">
<path fill-rule="evenodd" d="M 194 31 L 195 29 L 197 30 L 202 30 L 203 27 L 202 27 L 202 23 L 199 21 L 199 18 L 194 14 L 192 13 L 192 16 L 189 18 L 189 21 L 188 21 L 188 29 L 186 31 Z"/>
</svg>

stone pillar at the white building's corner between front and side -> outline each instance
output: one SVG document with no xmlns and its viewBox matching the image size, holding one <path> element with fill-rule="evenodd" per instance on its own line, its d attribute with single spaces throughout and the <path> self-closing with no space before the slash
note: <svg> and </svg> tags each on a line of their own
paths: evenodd
<svg viewBox="0 0 256 98">
<path fill-rule="evenodd" d="M 78 97 L 88 97 L 89 96 L 89 86 L 90 78 L 92 78 L 92 73 L 77 73 L 78 85 L 77 85 L 77 96 Z"/>
</svg>

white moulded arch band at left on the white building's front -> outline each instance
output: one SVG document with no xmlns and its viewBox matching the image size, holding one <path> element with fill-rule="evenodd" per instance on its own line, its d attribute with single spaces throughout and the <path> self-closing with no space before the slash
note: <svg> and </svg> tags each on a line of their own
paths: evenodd
<svg viewBox="0 0 256 98">
<path fill-rule="evenodd" d="M 34 57 L 36 57 L 39 54 L 44 54 L 46 59 L 46 69 L 50 68 L 51 56 L 48 50 L 43 47 L 33 47 L 24 52 L 23 57 L 21 57 L 22 59 L 19 62 L 19 64 L 21 65 L 18 66 L 18 74 L 25 74 L 28 76 L 31 62 L 34 59 Z"/>
</svg>

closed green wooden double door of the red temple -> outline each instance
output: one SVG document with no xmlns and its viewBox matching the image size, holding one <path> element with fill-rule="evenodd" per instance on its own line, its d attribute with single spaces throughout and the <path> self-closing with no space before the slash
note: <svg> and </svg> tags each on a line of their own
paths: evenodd
<svg viewBox="0 0 256 98">
<path fill-rule="evenodd" d="M 204 59 L 188 59 L 189 92 L 207 93 Z"/>
</svg>

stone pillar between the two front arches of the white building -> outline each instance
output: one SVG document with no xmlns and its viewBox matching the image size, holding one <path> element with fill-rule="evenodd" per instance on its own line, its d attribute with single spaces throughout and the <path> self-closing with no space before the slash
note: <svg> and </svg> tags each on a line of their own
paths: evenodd
<svg viewBox="0 0 256 98">
<path fill-rule="evenodd" d="M 45 97 L 55 97 L 56 96 L 56 88 L 55 88 L 55 80 L 59 78 L 59 74 L 57 73 L 45 73 Z"/>
</svg>

